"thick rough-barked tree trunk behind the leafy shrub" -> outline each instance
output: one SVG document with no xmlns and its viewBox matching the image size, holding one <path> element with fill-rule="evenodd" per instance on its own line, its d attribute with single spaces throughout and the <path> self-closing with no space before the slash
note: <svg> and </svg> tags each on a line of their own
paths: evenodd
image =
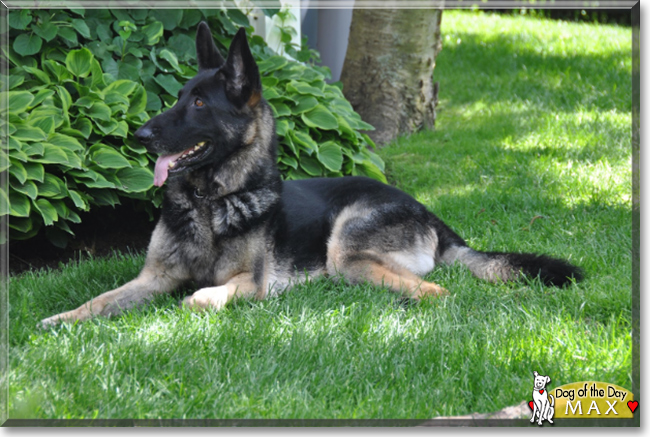
<svg viewBox="0 0 650 437">
<path fill-rule="evenodd" d="M 343 93 L 378 145 L 432 129 L 438 103 L 433 83 L 440 9 L 355 9 L 343 64 Z"/>
</svg>

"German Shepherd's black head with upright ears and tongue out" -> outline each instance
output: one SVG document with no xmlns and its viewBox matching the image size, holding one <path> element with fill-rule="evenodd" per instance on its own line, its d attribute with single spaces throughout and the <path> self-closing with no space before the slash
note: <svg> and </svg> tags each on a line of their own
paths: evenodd
<svg viewBox="0 0 650 437">
<path fill-rule="evenodd" d="M 196 33 L 198 74 L 178 93 L 176 104 L 135 132 L 149 152 L 158 153 L 154 184 L 204 165 L 222 162 L 245 142 L 246 127 L 262 100 L 262 84 L 246 32 L 239 29 L 226 60 L 210 28 Z"/>
</svg>

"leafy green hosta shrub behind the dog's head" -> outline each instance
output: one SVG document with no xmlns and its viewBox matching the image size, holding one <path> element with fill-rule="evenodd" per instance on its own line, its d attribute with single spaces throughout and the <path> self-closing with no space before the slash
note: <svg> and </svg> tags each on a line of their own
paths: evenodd
<svg viewBox="0 0 650 437">
<path fill-rule="evenodd" d="M 151 156 L 132 137 L 139 126 L 176 101 L 196 74 L 194 33 L 210 24 L 223 53 L 239 26 L 252 32 L 237 9 L 210 10 L 35 10 L 9 13 L 10 64 L 8 193 L 0 192 L 0 215 L 10 214 L 10 237 L 26 239 L 45 225 L 59 246 L 73 235 L 69 222 L 94 206 L 121 198 L 159 206 Z M 278 163 L 285 178 L 363 174 L 385 180 L 383 163 L 367 147 L 361 121 L 317 54 L 290 44 L 277 56 L 252 36 L 264 96 L 277 119 Z M 285 38 L 288 36 L 288 38 Z"/>
</svg>

